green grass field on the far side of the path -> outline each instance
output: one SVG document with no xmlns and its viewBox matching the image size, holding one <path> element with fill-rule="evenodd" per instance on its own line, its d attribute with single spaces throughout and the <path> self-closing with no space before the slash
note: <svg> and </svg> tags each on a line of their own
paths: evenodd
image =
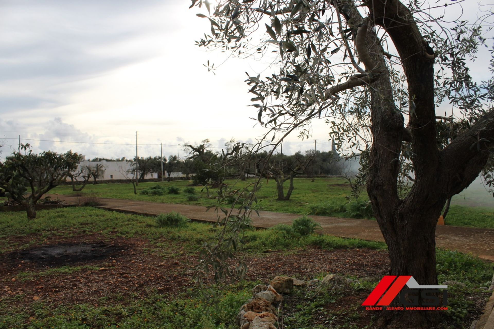
<svg viewBox="0 0 494 329">
<path fill-rule="evenodd" d="M 253 181 L 253 179 L 246 180 L 244 182 L 226 180 L 225 183 L 230 186 L 237 183 L 236 186 L 240 188 L 247 186 L 247 184 L 252 183 Z M 216 196 L 215 189 L 209 190 L 209 195 L 211 198 L 207 198 L 206 190 L 201 191 L 201 186 L 189 186 L 191 184 L 192 181 L 140 183 L 137 186 L 137 195 L 134 195 L 130 184 L 124 183 L 87 185 L 84 187 L 82 192 L 86 195 L 95 195 L 102 198 L 129 199 L 199 206 L 209 206 L 214 204 L 215 200 L 212 198 Z M 286 182 L 286 184 L 288 184 L 288 182 Z M 164 192 L 163 195 L 141 193 L 142 191 L 150 190 L 150 188 L 154 188 L 156 186 L 160 186 L 166 191 L 169 187 L 172 187 L 185 192 L 180 194 L 168 194 L 167 192 Z M 368 209 L 366 209 L 366 202 L 368 201 L 368 198 L 365 191 L 359 202 L 352 201 L 349 203 L 346 196 L 350 194 L 350 186 L 344 178 L 318 178 L 314 182 L 311 182 L 310 179 L 297 178 L 294 180 L 294 186 L 295 189 L 293 190 L 290 200 L 277 201 L 275 182 L 272 180 L 263 180 L 261 188 L 257 194 L 257 199 L 259 200 L 257 209 L 300 215 L 312 214 L 345 218 L 372 218 Z M 187 192 L 191 191 L 190 188 L 194 189 L 195 196 L 191 196 L 191 193 Z M 72 191 L 72 186 L 63 185 L 52 189 L 51 193 L 74 195 L 75 192 Z M 468 191 L 464 191 L 462 193 L 463 195 L 466 195 L 467 198 L 470 197 Z M 453 200 L 445 222 L 447 225 L 455 226 L 494 228 L 494 206 L 492 208 L 468 207 L 464 205 L 455 205 Z"/>
</svg>

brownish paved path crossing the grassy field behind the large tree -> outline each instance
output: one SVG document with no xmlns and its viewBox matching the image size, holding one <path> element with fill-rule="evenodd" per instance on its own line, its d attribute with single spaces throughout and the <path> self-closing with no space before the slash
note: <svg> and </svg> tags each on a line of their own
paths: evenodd
<svg viewBox="0 0 494 329">
<path fill-rule="evenodd" d="M 51 195 L 52 199 L 59 198 L 70 203 L 78 203 L 78 198 L 65 195 Z M 206 212 L 206 207 L 158 202 L 99 199 L 103 205 L 100 208 L 131 214 L 154 216 L 171 211 L 199 221 L 216 221 L 213 209 Z M 293 219 L 300 217 L 296 214 L 259 211 L 259 217 L 252 217 L 256 227 L 271 227 L 279 223 L 291 224 Z M 326 234 L 356 238 L 369 241 L 384 241 L 375 220 L 348 219 L 327 216 L 310 216 L 321 223 Z M 436 228 L 436 245 L 440 248 L 457 250 L 462 253 L 472 253 L 481 258 L 494 261 L 494 229 L 459 227 L 439 225 Z"/>
</svg>

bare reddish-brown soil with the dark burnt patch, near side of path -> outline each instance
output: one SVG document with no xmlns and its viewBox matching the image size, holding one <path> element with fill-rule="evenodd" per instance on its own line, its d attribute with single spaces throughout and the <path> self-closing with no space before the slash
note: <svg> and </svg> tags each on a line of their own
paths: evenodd
<svg viewBox="0 0 494 329">
<path fill-rule="evenodd" d="M 28 242 L 29 237 L 25 237 Z M 0 254 L 0 299 L 17 298 L 17 306 L 38 300 L 52 305 L 90 303 L 104 296 L 146 294 L 156 289 L 172 296 L 193 285 L 192 273 L 182 274 L 183 261 L 195 261 L 175 244 L 170 256 L 157 256 L 147 240 L 99 236 L 52 239 L 22 251 Z M 269 282 L 276 275 L 312 279 L 321 273 L 356 277 L 382 276 L 389 267 L 386 251 L 367 249 L 306 249 L 296 253 L 273 251 L 247 257 L 248 278 Z M 60 266 L 81 266 L 70 273 Z M 49 271 L 52 271 L 51 273 Z M 26 274 L 26 272 L 28 272 Z M 41 272 L 41 275 L 40 275 Z M 124 298 L 125 300 L 125 298 Z"/>
</svg>

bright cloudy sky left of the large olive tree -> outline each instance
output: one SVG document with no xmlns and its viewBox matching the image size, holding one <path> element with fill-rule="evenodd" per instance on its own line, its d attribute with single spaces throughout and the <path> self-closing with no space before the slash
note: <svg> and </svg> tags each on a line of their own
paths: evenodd
<svg viewBox="0 0 494 329">
<path fill-rule="evenodd" d="M 208 73 L 207 60 L 225 57 L 194 45 L 209 24 L 189 4 L 2 0 L 1 155 L 17 149 L 18 135 L 36 152 L 72 149 L 89 158 L 131 158 L 136 131 L 141 156 L 159 155 L 160 143 L 165 155 L 184 156 L 184 142 L 208 138 L 222 147 L 232 137 L 260 137 L 264 129 L 249 119 L 256 113 L 247 107 L 244 72 L 266 73 L 267 60 L 229 59 Z M 329 150 L 322 121 L 314 123 L 313 139 L 289 137 L 284 152 L 313 148 L 314 139 Z"/>
</svg>

